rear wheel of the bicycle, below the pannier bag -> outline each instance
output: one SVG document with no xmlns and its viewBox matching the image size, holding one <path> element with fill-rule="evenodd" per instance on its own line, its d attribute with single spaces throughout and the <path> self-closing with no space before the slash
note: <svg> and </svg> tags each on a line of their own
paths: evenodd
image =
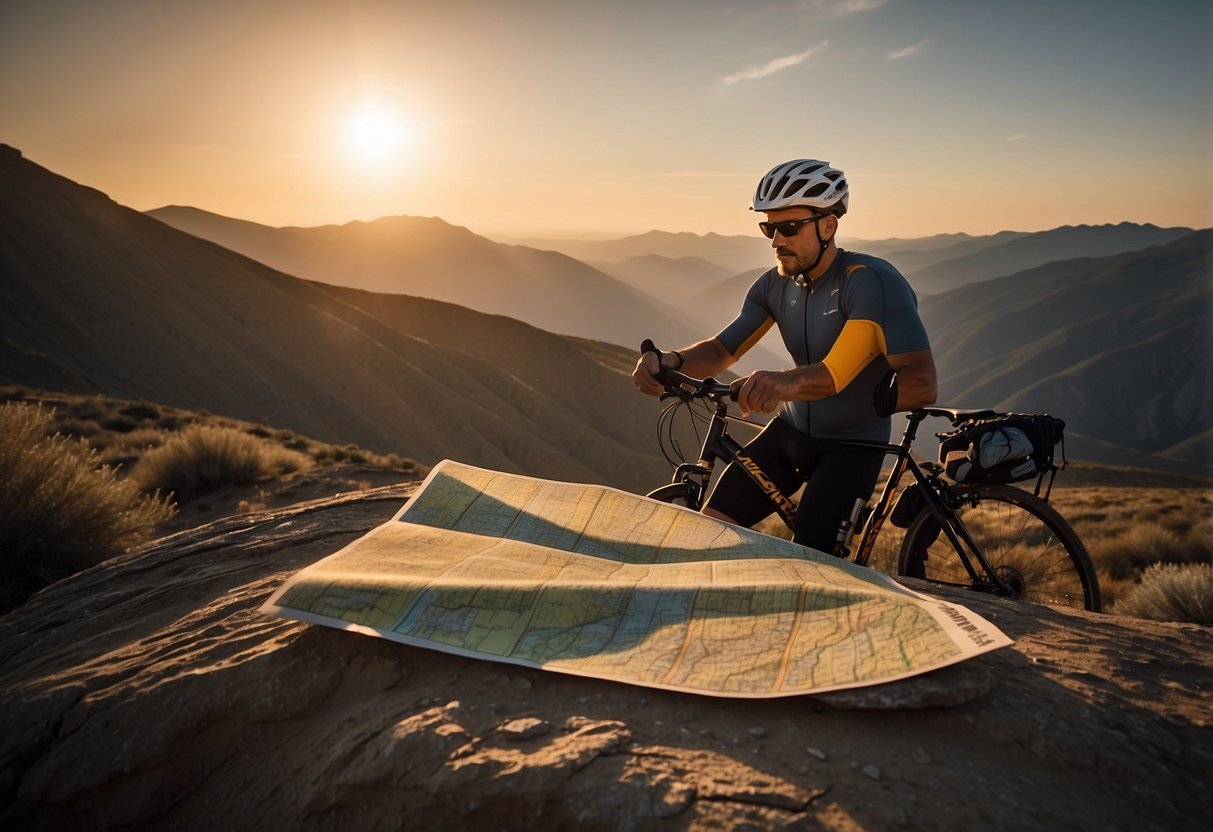
<svg viewBox="0 0 1213 832">
<path fill-rule="evenodd" d="M 1087 547 L 1055 508 L 1009 485 L 962 486 L 959 495 L 956 514 L 1016 598 L 1100 611 L 1099 580 Z M 972 585 L 926 505 L 906 529 L 898 574 Z"/>
</svg>

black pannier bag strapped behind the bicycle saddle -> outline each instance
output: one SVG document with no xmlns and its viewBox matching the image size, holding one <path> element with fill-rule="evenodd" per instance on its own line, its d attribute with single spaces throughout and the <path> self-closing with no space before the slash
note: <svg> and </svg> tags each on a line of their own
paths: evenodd
<svg viewBox="0 0 1213 832">
<path fill-rule="evenodd" d="M 1053 449 L 1064 429 L 1064 421 L 1047 414 L 978 420 L 938 434 L 939 463 L 957 483 L 1018 483 L 1054 467 Z"/>
</svg>

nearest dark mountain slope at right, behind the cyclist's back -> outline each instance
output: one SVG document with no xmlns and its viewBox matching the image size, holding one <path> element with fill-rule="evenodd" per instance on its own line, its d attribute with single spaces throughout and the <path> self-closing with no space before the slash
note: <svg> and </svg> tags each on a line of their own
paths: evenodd
<svg viewBox="0 0 1213 832">
<path fill-rule="evenodd" d="M 1152 467 L 1208 474 L 1211 273 L 1213 232 L 1198 232 L 924 298 L 940 400 L 1058 414 L 1074 434 L 1155 455 Z M 1143 465 L 1097 443 L 1069 450 Z"/>
</svg>

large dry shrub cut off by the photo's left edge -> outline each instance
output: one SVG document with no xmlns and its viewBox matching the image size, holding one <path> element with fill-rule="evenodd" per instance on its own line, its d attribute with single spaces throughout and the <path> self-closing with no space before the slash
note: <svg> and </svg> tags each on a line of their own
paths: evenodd
<svg viewBox="0 0 1213 832">
<path fill-rule="evenodd" d="M 53 411 L 41 405 L 0 406 L 0 612 L 143 543 L 172 515 L 158 495 L 52 431 Z"/>
</svg>

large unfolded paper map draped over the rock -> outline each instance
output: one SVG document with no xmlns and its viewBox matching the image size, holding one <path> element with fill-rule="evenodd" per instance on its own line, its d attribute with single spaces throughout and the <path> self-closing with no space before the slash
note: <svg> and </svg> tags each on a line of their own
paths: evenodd
<svg viewBox="0 0 1213 832">
<path fill-rule="evenodd" d="M 263 610 L 736 697 L 892 682 L 1010 644 L 963 606 L 786 540 L 616 489 L 451 461 Z"/>
</svg>

